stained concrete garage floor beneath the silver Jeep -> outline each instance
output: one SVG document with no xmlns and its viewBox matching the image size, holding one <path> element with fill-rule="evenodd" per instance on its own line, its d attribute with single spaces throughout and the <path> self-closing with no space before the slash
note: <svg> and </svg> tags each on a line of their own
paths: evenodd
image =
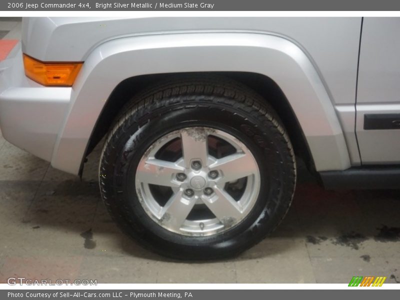
<svg viewBox="0 0 400 300">
<path fill-rule="evenodd" d="M 18 20 L 0 19 L 3 38 Z M 299 167 L 293 205 L 278 229 L 234 259 L 172 261 L 123 235 L 101 202 L 100 147 L 82 180 L 11 145 L 0 133 L 0 282 L 8 277 L 98 283 L 400 282 L 400 190 L 326 191 Z"/>
</svg>

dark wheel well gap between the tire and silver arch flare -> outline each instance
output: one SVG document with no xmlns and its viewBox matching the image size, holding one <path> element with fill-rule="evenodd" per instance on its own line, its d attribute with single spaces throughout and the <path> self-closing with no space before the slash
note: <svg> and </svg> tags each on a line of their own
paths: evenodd
<svg viewBox="0 0 400 300">
<path fill-rule="evenodd" d="M 207 74 L 211 73 L 239 81 L 259 93 L 265 101 L 268 101 L 282 120 L 293 145 L 295 154 L 305 162 L 308 169 L 314 170 L 312 156 L 297 117 L 286 96 L 274 80 L 265 75 L 251 72 L 190 72 L 187 74 L 204 75 L 206 77 Z M 167 79 L 168 76 L 184 74 L 185 73 L 148 74 L 130 77 L 121 81 L 111 92 L 97 119 L 86 147 L 79 174 L 82 174 L 83 162 L 85 161 L 86 156 L 107 133 L 120 109 L 134 94 L 160 80 Z"/>
</svg>

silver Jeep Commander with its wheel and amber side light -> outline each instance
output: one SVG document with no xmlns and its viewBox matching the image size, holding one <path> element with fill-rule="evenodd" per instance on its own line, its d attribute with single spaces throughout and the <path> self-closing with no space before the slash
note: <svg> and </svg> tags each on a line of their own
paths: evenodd
<svg viewBox="0 0 400 300">
<path fill-rule="evenodd" d="M 4 137 L 81 174 L 163 255 L 233 255 L 325 187 L 400 187 L 398 18 L 24 18 L 0 65 Z"/>
</svg>

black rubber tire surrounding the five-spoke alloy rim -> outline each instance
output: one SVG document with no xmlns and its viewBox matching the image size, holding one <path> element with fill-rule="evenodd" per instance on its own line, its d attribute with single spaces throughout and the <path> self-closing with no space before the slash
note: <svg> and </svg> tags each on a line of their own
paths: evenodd
<svg viewBox="0 0 400 300">
<path fill-rule="evenodd" d="M 134 176 L 154 140 L 199 125 L 241 140 L 258 163 L 262 183 L 254 207 L 239 224 L 219 234 L 185 236 L 145 213 Z M 175 76 L 134 96 L 109 131 L 99 165 L 102 199 L 121 229 L 146 248 L 178 259 L 228 257 L 262 240 L 286 214 L 295 177 L 292 146 L 272 107 L 246 86 L 219 76 Z"/>
</svg>

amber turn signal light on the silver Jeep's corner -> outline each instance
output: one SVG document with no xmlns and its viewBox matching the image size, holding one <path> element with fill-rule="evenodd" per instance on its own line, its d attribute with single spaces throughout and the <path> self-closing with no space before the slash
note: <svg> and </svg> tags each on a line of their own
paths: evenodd
<svg viewBox="0 0 400 300">
<path fill-rule="evenodd" d="M 25 75 L 45 86 L 72 86 L 83 62 L 43 62 L 23 54 Z"/>
</svg>

